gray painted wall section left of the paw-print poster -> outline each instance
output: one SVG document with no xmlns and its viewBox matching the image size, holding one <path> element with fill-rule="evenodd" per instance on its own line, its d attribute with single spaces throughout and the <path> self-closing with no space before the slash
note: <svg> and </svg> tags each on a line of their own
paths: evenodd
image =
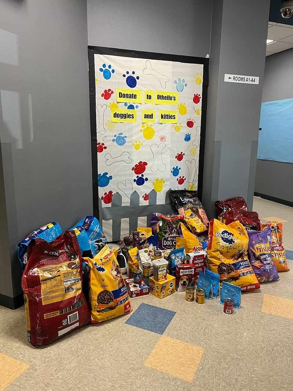
<svg viewBox="0 0 293 391">
<path fill-rule="evenodd" d="M 0 135 L 11 253 L 10 260 L 1 234 L 0 278 L 5 271 L 10 281 L 0 280 L 0 293 L 10 297 L 21 293 L 18 241 L 52 220 L 65 230 L 92 213 L 87 45 L 84 0 L 0 0 Z M 0 208 L 5 218 L 4 194 Z"/>
</svg>

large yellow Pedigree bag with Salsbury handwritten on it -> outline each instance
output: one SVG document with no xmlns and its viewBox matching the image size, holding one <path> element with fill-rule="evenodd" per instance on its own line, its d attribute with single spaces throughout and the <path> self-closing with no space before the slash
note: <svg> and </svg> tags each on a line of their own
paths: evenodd
<svg viewBox="0 0 293 391">
<path fill-rule="evenodd" d="M 209 269 L 220 274 L 220 282 L 253 291 L 260 287 L 247 257 L 248 235 L 239 221 L 226 225 L 212 219 L 209 225 L 207 258 Z"/>
</svg>

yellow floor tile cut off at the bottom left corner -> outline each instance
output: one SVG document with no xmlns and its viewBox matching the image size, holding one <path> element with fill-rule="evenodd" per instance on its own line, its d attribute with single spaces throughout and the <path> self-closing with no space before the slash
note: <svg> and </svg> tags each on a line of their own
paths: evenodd
<svg viewBox="0 0 293 391">
<path fill-rule="evenodd" d="M 0 353 L 0 368 L 2 373 L 0 377 L 0 391 L 2 391 L 29 368 L 29 365 Z"/>
</svg>

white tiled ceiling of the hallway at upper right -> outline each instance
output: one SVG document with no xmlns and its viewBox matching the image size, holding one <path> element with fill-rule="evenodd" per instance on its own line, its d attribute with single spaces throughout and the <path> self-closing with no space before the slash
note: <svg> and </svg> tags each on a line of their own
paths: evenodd
<svg viewBox="0 0 293 391">
<path fill-rule="evenodd" d="M 269 22 L 268 39 L 274 42 L 266 45 L 266 56 L 293 48 L 293 26 Z"/>
</svg>

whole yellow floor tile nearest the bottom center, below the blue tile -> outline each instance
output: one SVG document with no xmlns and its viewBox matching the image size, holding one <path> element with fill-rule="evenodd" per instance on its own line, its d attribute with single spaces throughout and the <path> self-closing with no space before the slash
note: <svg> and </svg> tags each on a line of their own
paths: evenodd
<svg viewBox="0 0 293 391">
<path fill-rule="evenodd" d="M 192 382 L 203 353 L 199 346 L 162 335 L 145 365 Z"/>
</svg>

